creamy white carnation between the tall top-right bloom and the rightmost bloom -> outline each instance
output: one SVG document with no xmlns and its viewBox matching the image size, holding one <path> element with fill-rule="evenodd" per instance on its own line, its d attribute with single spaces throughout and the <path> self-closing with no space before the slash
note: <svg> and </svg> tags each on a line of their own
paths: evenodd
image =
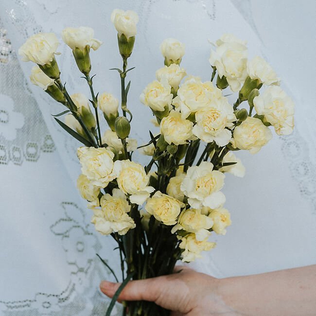
<svg viewBox="0 0 316 316">
<path fill-rule="evenodd" d="M 259 79 L 264 85 L 279 85 L 278 78 L 272 67 L 260 56 L 247 62 L 247 72 L 251 79 Z"/>
</svg>

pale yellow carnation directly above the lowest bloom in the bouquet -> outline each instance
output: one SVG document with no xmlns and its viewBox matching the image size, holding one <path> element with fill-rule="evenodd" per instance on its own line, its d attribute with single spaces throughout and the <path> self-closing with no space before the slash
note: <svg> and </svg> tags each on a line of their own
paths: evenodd
<svg viewBox="0 0 316 316">
<path fill-rule="evenodd" d="M 201 214 L 201 210 L 188 209 L 181 212 L 178 224 L 171 230 L 175 233 L 179 229 L 195 233 L 198 241 L 203 241 L 210 236 L 209 229 L 213 226 L 211 217 Z"/>
</svg>

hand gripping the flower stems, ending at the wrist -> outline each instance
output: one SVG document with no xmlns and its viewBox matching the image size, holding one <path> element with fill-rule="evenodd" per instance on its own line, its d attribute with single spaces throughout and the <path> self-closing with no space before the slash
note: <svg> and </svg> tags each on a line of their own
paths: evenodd
<svg viewBox="0 0 316 316">
<path fill-rule="evenodd" d="M 218 292 L 219 279 L 178 266 L 171 275 L 130 281 L 119 296 L 123 300 L 147 300 L 173 311 L 171 316 L 238 315 Z M 120 283 L 102 281 L 101 291 L 112 298 Z"/>
</svg>

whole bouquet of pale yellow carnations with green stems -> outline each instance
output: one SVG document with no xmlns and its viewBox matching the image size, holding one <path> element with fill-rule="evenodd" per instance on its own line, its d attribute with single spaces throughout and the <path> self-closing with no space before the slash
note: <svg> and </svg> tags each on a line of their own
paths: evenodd
<svg viewBox="0 0 316 316">
<path fill-rule="evenodd" d="M 221 192 L 225 173 L 245 173 L 233 152 L 257 153 L 272 138 L 270 126 L 278 135 L 290 134 L 294 127 L 292 100 L 263 58 L 247 59 L 245 41 L 227 34 L 218 39 L 209 60 L 210 80 L 203 82 L 180 67 L 185 47 L 168 38 L 160 45 L 164 67 L 140 95 L 159 132 L 149 131 L 148 142 L 138 147 L 150 157 L 148 162 L 134 161 L 137 140 L 130 138 L 133 116 L 127 103 L 130 82 L 126 85 L 125 79 L 134 69 L 128 69 L 127 61 L 133 52 L 138 15 L 114 10 L 111 20 L 123 60 L 122 69 L 114 69 L 121 79 L 121 107 L 112 94 L 93 89 L 90 50 L 96 51 L 102 42 L 93 38 L 91 28 L 62 32 L 87 81 L 90 100 L 81 93 L 70 95 L 62 82 L 55 59 L 56 35 L 33 35 L 19 49 L 23 61 L 36 64 L 32 83 L 67 108 L 54 119 L 83 144 L 77 151 L 82 166 L 78 189 L 93 211 L 95 229 L 111 235 L 118 244 L 123 282 L 106 315 L 130 279 L 171 274 L 178 260 L 191 262 L 212 249 L 211 232 L 225 234 L 231 224 Z M 237 94 L 233 105 L 223 94 L 228 87 Z M 58 118 L 63 115 L 64 121 Z M 104 133 L 101 117 L 108 125 Z M 123 315 L 169 312 L 154 303 L 136 301 L 124 303 Z"/>
</svg>

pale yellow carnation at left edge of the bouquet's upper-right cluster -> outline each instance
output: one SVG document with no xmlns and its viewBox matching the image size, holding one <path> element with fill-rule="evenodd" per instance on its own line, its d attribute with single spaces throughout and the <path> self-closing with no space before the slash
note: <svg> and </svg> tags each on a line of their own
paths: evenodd
<svg viewBox="0 0 316 316">
<path fill-rule="evenodd" d="M 140 102 L 149 106 L 153 111 L 164 111 L 172 108 L 173 94 L 166 79 L 153 81 L 140 94 Z"/>
</svg>

